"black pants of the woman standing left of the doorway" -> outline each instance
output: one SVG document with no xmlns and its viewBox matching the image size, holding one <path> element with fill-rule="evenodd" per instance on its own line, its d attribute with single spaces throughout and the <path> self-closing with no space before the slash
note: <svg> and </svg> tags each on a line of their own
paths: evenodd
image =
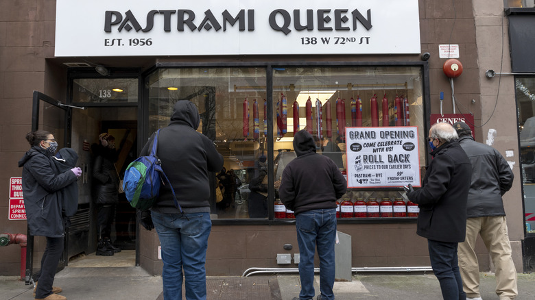
<svg viewBox="0 0 535 300">
<path fill-rule="evenodd" d="M 47 238 L 47 247 L 41 259 L 41 269 L 39 271 L 39 284 L 35 292 L 36 299 L 46 298 L 52 294 L 52 284 L 56 275 L 56 268 L 63 253 L 63 238 Z"/>
</svg>

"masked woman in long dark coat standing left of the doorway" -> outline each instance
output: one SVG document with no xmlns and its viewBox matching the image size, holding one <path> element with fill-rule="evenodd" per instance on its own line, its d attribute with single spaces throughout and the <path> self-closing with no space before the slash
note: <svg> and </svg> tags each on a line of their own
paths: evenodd
<svg viewBox="0 0 535 300">
<path fill-rule="evenodd" d="M 77 181 L 82 169 L 73 167 L 63 172 L 58 170 L 52 158 L 58 149 L 58 142 L 50 132 L 29 132 L 26 140 L 30 149 L 19 160 L 19 167 L 23 167 L 22 187 L 29 234 L 45 236 L 47 240 L 34 297 L 64 300 L 67 298 L 58 295 L 62 288 L 53 286 L 64 248 L 66 218 L 62 214 L 62 203 L 78 203 L 78 198 L 63 199 L 64 195 L 69 195 L 64 194 L 63 189 Z"/>
</svg>

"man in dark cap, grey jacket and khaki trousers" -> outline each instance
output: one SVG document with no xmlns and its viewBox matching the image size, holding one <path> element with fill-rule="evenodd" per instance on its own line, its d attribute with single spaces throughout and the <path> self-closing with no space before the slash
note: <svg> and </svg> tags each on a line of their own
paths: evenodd
<svg viewBox="0 0 535 300">
<path fill-rule="evenodd" d="M 514 299 L 516 269 L 511 257 L 503 199 L 512 186 L 513 173 L 503 156 L 494 148 L 475 142 L 470 127 L 457 122 L 453 127 L 458 142 L 472 163 L 472 182 L 468 192 L 466 240 L 459 244 L 459 267 L 467 299 L 479 299 L 479 265 L 474 251 L 479 234 L 496 267 L 496 294 L 499 299 Z"/>
</svg>

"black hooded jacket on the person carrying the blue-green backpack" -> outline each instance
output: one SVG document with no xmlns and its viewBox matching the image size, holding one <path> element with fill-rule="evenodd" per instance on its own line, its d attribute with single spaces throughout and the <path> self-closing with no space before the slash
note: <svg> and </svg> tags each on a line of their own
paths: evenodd
<svg viewBox="0 0 535 300">
<path fill-rule="evenodd" d="M 197 132 L 200 124 L 199 111 L 189 100 L 177 101 L 169 126 L 160 130 L 156 156 L 162 162 L 162 169 L 173 186 L 176 199 L 187 213 L 210 212 L 209 171 L 216 172 L 223 167 L 223 156 L 217 152 L 214 143 Z M 141 156 L 150 153 L 154 134 L 150 137 Z M 167 182 L 160 186 L 160 197 L 151 210 L 176 214 L 173 194 Z"/>
</svg>

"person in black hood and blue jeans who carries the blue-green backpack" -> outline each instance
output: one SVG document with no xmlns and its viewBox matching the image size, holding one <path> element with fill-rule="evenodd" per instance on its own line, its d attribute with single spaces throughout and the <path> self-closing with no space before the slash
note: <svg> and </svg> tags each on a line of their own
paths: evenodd
<svg viewBox="0 0 535 300">
<path fill-rule="evenodd" d="M 212 228 L 210 179 L 212 172 L 222 169 L 224 161 L 212 140 L 197 131 L 199 124 L 197 106 L 189 100 L 179 100 L 169 126 L 158 134 L 156 155 L 176 191 L 182 213 L 169 184 L 160 187 L 152 208 L 141 213 L 141 225 L 148 230 L 156 228 L 160 239 L 165 300 L 182 299 L 184 277 L 186 299 L 206 300 L 204 264 Z M 141 156 L 149 153 L 154 136 L 141 150 Z"/>
</svg>

